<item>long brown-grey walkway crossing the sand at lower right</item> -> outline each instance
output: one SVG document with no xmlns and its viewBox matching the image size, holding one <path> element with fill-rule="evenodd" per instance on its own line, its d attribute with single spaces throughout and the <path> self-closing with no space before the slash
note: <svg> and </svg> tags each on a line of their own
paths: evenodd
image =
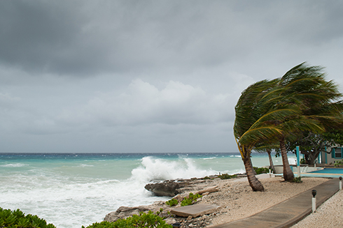
<svg viewBox="0 0 343 228">
<path fill-rule="evenodd" d="M 332 197 L 339 190 L 339 179 L 332 178 L 313 188 L 317 191 L 316 207 Z M 311 190 L 296 195 L 290 199 L 276 204 L 265 211 L 261 211 L 248 218 L 228 222 L 211 228 L 283 228 L 291 227 L 312 212 Z"/>
</svg>

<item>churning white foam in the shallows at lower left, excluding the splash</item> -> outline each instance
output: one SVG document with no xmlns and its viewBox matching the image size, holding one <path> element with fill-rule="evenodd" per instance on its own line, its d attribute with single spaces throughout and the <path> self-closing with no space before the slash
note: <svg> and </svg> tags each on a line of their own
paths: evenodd
<svg viewBox="0 0 343 228">
<path fill-rule="evenodd" d="M 13 179 L 13 178 L 12 178 Z M 97 180 L 55 176 L 15 176 L 0 187 L 0 205 L 39 215 L 57 227 L 81 227 L 101 222 L 106 213 L 119 206 L 151 204 L 156 200 L 144 189 L 144 181 Z M 10 186 L 11 185 L 11 186 Z M 167 198 L 165 198 L 167 200 Z"/>
</svg>

